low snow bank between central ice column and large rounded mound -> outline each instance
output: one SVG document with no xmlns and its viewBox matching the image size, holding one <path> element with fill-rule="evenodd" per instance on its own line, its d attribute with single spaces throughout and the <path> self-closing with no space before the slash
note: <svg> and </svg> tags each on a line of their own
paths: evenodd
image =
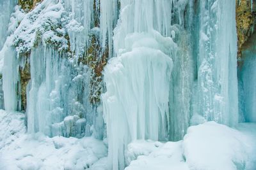
<svg viewBox="0 0 256 170">
<path fill-rule="evenodd" d="M 138 142 L 129 144 L 128 151 L 131 152 L 132 150 L 137 149 L 137 146 Z M 167 143 L 148 143 L 147 141 L 145 141 L 141 148 L 143 148 L 143 150 L 145 150 L 146 152 L 144 152 L 144 154 L 141 152 L 141 155 L 138 155 L 138 159 L 133 160 L 131 164 L 129 164 L 129 166 L 125 168 L 125 170 L 189 169 L 182 155 L 182 141 Z M 147 151 L 151 151 L 151 153 L 148 153 Z"/>
</svg>

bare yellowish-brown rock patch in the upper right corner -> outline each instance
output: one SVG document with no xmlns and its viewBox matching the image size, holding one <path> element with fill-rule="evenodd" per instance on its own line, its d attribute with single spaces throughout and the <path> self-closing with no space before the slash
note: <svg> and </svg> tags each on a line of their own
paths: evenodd
<svg viewBox="0 0 256 170">
<path fill-rule="evenodd" d="M 255 3 L 252 4 L 250 0 L 237 0 L 236 6 L 236 23 L 237 23 L 237 46 L 238 52 L 237 57 L 239 59 L 239 65 L 242 64 L 241 57 L 243 46 L 248 38 L 252 36 L 255 31 L 256 24 L 256 11 L 255 11 Z"/>
</svg>

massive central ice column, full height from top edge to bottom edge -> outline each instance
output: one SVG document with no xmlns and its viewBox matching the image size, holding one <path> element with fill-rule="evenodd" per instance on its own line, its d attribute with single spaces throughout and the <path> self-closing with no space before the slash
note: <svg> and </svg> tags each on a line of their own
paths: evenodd
<svg viewBox="0 0 256 170">
<path fill-rule="evenodd" d="M 124 169 L 125 148 L 131 141 L 169 139 L 172 59 L 178 53 L 173 39 L 175 31 L 179 31 L 178 26 L 172 27 L 172 10 L 177 11 L 178 23 L 184 24 L 181 13 L 186 1 L 179 1 L 176 5 L 180 8 L 174 9 L 175 3 L 120 1 L 120 17 L 113 31 L 116 57 L 109 60 L 104 71 L 107 92 L 102 95 L 109 169 Z M 102 11 L 113 17 L 113 5 L 115 1 L 109 1 L 106 5 L 109 9 Z M 109 25 L 115 25 L 113 18 L 106 20 L 101 25 L 103 40 L 106 30 L 111 30 Z M 112 41 L 111 34 L 108 34 L 109 41 Z"/>
</svg>

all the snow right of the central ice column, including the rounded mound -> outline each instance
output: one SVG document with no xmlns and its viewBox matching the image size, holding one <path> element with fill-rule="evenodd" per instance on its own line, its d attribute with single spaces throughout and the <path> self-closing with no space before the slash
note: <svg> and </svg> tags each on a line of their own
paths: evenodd
<svg viewBox="0 0 256 170">
<path fill-rule="evenodd" d="M 127 159 L 132 161 L 125 170 L 253 170 L 256 167 L 255 125 L 239 124 L 237 131 L 206 122 L 189 127 L 182 141 L 134 141 L 127 148 Z"/>
</svg>

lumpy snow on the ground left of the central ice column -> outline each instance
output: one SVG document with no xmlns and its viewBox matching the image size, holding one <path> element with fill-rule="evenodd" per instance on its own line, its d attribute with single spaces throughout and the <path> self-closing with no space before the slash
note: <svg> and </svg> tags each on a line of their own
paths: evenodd
<svg viewBox="0 0 256 170">
<path fill-rule="evenodd" d="M 0 169 L 106 170 L 108 148 L 103 141 L 26 134 L 24 113 L 0 110 L 0 123 Z"/>
</svg>

